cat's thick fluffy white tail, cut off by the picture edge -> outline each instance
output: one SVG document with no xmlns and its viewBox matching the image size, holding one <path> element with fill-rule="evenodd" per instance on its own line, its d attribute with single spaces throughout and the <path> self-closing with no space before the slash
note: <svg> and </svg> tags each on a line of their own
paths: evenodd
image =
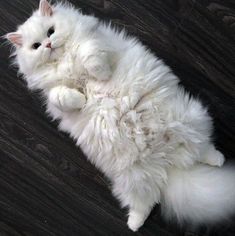
<svg viewBox="0 0 235 236">
<path fill-rule="evenodd" d="M 162 213 L 179 224 L 226 220 L 235 213 L 235 167 L 198 165 L 170 170 L 163 189 Z"/>
</svg>

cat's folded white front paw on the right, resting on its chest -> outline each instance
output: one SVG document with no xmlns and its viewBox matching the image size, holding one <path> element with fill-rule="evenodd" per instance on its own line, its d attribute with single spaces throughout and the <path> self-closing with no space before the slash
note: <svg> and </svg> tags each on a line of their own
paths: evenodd
<svg viewBox="0 0 235 236">
<path fill-rule="evenodd" d="M 102 49 L 97 40 L 90 40 L 80 45 L 80 57 L 88 73 L 98 80 L 111 78 L 108 52 Z"/>
</svg>

